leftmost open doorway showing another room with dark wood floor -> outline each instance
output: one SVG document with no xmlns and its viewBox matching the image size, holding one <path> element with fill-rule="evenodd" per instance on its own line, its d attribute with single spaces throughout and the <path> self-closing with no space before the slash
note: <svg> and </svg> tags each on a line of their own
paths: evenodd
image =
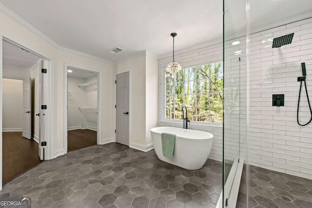
<svg viewBox="0 0 312 208">
<path fill-rule="evenodd" d="M 41 57 L 6 40 L 2 45 L 2 184 L 5 184 L 43 159 L 38 154 L 39 118 L 32 116 L 39 112 L 39 93 L 35 92 L 39 91 L 36 83 Z"/>
</svg>

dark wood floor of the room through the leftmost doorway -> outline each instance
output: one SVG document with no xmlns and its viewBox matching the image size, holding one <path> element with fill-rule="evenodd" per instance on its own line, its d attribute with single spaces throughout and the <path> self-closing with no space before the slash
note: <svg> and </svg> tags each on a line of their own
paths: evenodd
<svg viewBox="0 0 312 208">
<path fill-rule="evenodd" d="M 2 184 L 37 166 L 38 143 L 22 137 L 22 132 L 2 132 Z"/>
</svg>

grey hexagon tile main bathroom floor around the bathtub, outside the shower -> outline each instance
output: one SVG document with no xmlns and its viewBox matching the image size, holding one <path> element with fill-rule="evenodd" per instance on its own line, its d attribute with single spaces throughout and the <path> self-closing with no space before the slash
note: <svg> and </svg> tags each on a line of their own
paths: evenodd
<svg viewBox="0 0 312 208">
<path fill-rule="evenodd" d="M 221 190 L 221 162 L 185 170 L 154 150 L 110 143 L 45 161 L 6 184 L 0 197 L 31 197 L 33 208 L 215 208 Z"/>
</svg>

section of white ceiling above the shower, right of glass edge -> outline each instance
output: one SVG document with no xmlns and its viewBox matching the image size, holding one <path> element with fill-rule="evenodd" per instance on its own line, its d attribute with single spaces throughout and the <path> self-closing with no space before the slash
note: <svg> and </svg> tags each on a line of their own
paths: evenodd
<svg viewBox="0 0 312 208">
<path fill-rule="evenodd" d="M 249 0 L 250 32 L 255 33 L 312 17 L 312 0 Z M 246 0 L 225 0 L 226 32 L 246 35 Z M 232 30 L 232 31 L 231 31 Z M 231 32 L 230 32 L 231 31 Z"/>
</svg>

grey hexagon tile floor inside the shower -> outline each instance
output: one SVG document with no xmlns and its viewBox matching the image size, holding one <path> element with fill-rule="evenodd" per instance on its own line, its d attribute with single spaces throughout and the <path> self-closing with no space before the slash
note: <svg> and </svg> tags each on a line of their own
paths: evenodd
<svg viewBox="0 0 312 208">
<path fill-rule="evenodd" d="M 245 172 L 236 208 L 246 208 Z M 249 177 L 249 208 L 312 208 L 312 180 L 255 166 Z"/>
</svg>

